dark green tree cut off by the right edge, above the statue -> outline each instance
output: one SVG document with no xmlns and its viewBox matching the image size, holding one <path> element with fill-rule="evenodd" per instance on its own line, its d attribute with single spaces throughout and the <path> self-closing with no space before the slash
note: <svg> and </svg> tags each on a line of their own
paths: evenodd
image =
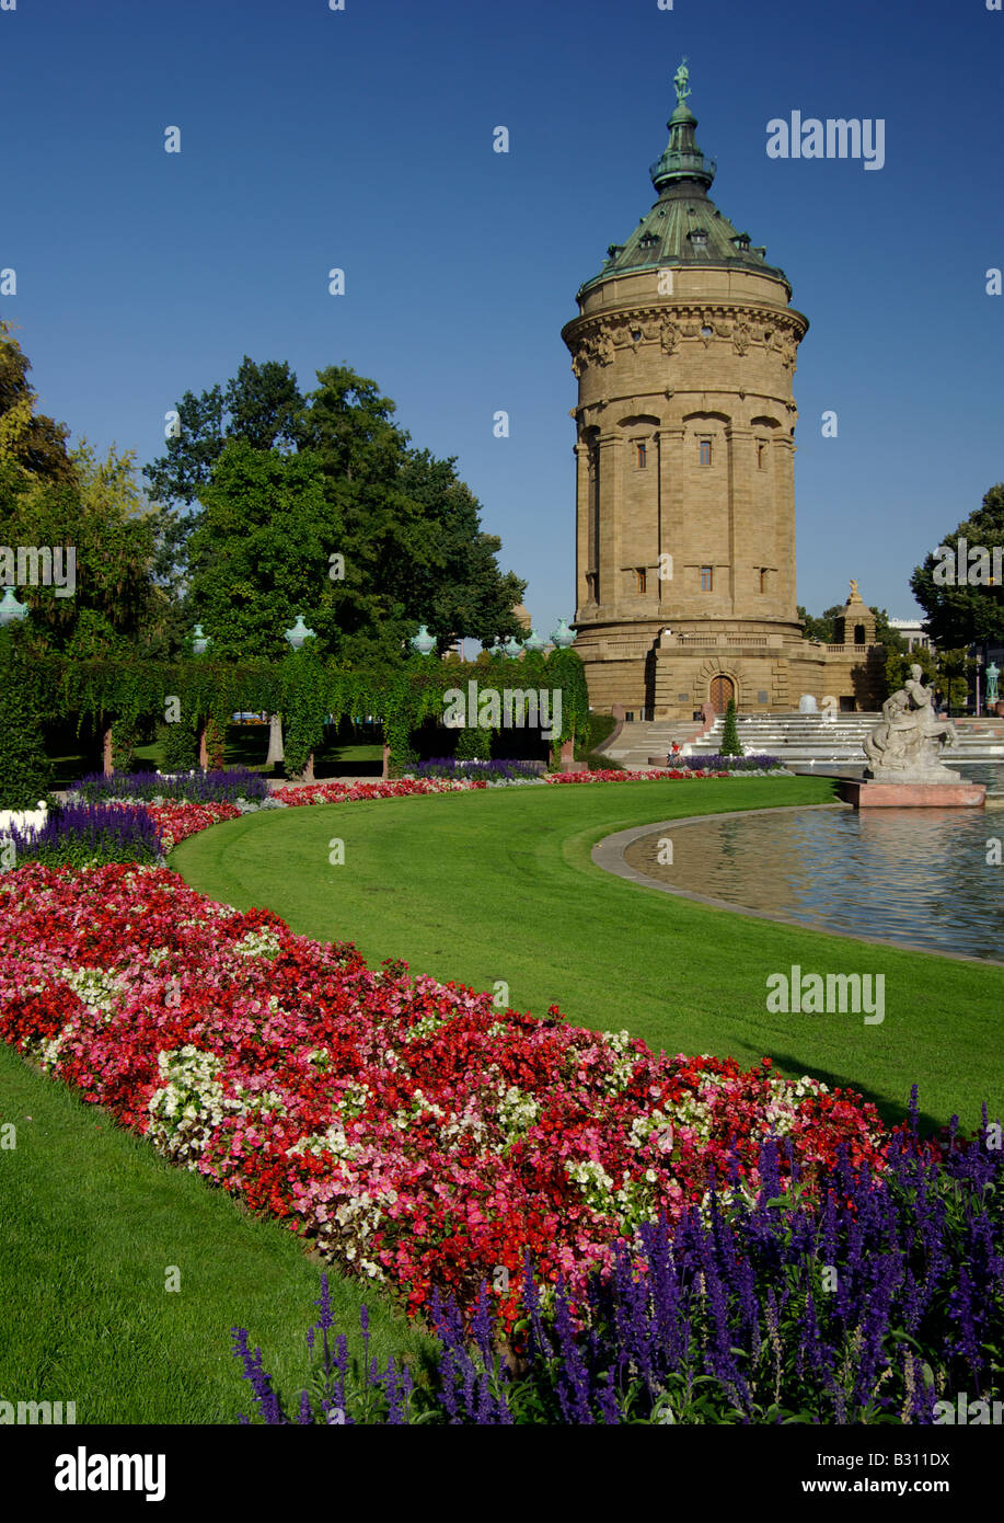
<svg viewBox="0 0 1004 1523">
<path fill-rule="evenodd" d="M 958 547 L 966 541 L 958 582 Z M 926 614 L 926 627 L 939 649 L 1004 640 L 1004 586 L 993 577 L 993 550 L 998 567 L 1004 553 L 1004 481 L 998 481 L 964 522 L 945 535 L 942 542 L 951 554 L 931 551 L 914 568 L 910 586 Z M 986 557 L 974 551 L 987 551 Z"/>
</svg>

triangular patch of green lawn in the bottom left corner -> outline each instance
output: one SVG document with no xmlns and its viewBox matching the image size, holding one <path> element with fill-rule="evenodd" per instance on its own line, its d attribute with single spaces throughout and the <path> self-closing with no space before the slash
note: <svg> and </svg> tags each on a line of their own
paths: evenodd
<svg viewBox="0 0 1004 1523">
<path fill-rule="evenodd" d="M 0 1400 L 76 1401 L 78 1422 L 233 1422 L 253 1407 L 231 1327 L 281 1389 L 301 1389 L 322 1266 L 298 1238 L 0 1043 L 5 1122 L 17 1147 L 0 1151 Z M 431 1346 L 373 1287 L 329 1279 L 354 1354 L 362 1301 L 380 1368 Z"/>
</svg>

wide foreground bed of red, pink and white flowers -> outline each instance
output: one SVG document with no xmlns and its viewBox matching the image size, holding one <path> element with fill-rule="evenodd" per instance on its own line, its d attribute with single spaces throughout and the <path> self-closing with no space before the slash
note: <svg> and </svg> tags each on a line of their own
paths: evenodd
<svg viewBox="0 0 1004 1523">
<path fill-rule="evenodd" d="M 794 1171 L 811 1194 L 841 1147 L 882 1168 L 888 1135 L 852 1092 L 374 972 L 166 868 L 5 874 L 0 944 L 5 1040 L 412 1310 L 434 1285 L 470 1305 L 497 1269 L 516 1282 L 525 1252 L 581 1285 L 713 1177 L 756 1193 L 768 1136 L 779 1189 Z"/>
</svg>

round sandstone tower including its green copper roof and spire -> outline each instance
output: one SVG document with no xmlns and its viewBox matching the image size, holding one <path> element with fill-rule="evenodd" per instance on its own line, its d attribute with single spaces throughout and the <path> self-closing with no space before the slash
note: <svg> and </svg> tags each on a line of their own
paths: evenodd
<svg viewBox="0 0 1004 1523">
<path fill-rule="evenodd" d="M 639 719 L 729 698 L 791 710 L 805 691 L 870 707 L 866 673 L 838 670 L 846 647 L 809 646 L 796 612 L 793 375 L 809 324 L 785 273 L 710 201 L 685 65 L 675 85 L 657 200 L 561 334 L 578 379 L 575 649 L 590 699 Z"/>
</svg>

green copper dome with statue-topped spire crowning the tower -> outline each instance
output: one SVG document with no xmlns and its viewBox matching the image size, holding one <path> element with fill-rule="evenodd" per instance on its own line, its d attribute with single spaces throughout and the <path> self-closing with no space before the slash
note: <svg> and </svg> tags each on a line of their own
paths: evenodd
<svg viewBox="0 0 1004 1523">
<path fill-rule="evenodd" d="M 598 276 L 580 286 L 580 297 L 612 276 L 636 270 L 724 265 L 777 276 L 791 299 L 791 285 L 783 270 L 768 265 L 767 250 L 753 248 L 750 235 L 738 231 L 707 195 L 716 164 L 704 157 L 694 139 L 697 117 L 686 104 L 691 93 L 688 78 L 685 59 L 674 81 L 677 108 L 666 122 L 669 142 L 662 158 L 650 169 L 659 200 L 624 244 L 610 244 L 607 262 Z"/>
</svg>

